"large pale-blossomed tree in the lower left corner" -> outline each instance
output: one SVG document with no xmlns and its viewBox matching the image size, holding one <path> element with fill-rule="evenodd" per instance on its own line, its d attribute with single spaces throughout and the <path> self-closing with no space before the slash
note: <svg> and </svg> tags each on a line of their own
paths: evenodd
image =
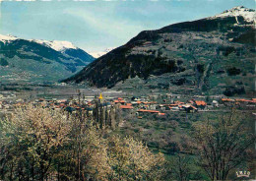
<svg viewBox="0 0 256 181">
<path fill-rule="evenodd" d="M 68 141 L 69 121 L 61 112 L 32 105 L 17 108 L 10 119 L 2 120 L 1 154 L 9 155 L 5 161 L 11 168 L 10 180 L 25 175 L 44 180 L 53 155 Z"/>
</svg>

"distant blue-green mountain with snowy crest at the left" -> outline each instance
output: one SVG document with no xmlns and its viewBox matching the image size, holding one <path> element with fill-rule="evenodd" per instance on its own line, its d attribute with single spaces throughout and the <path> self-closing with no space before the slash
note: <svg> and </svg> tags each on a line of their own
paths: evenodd
<svg viewBox="0 0 256 181">
<path fill-rule="evenodd" d="M 94 60 L 69 41 L 0 34 L 1 82 L 56 82 L 81 71 Z"/>
</svg>

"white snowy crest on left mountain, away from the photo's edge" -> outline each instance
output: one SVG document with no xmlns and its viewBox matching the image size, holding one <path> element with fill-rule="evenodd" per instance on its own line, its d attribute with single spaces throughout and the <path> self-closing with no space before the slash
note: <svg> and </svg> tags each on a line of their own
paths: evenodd
<svg viewBox="0 0 256 181">
<path fill-rule="evenodd" d="M 49 46 L 56 51 L 63 51 L 65 49 L 78 49 L 72 42 L 69 41 L 59 41 L 59 40 L 41 40 L 41 39 L 32 39 L 32 41 Z"/>
</svg>

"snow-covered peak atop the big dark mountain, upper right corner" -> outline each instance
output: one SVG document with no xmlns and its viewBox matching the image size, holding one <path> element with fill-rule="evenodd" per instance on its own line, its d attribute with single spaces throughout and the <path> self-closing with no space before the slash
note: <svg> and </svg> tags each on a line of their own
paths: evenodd
<svg viewBox="0 0 256 181">
<path fill-rule="evenodd" d="M 238 17 L 241 16 L 248 23 L 255 23 L 255 10 L 245 8 L 244 6 L 237 6 L 230 10 L 225 10 L 223 13 L 216 15 L 214 17 L 210 17 L 210 19 L 214 18 L 225 18 L 225 17 Z"/>
</svg>

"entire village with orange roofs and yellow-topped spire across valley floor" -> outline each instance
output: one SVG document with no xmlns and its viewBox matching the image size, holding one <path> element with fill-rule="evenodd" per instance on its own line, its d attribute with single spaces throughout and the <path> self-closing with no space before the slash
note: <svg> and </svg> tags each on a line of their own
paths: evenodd
<svg viewBox="0 0 256 181">
<path fill-rule="evenodd" d="M 214 99 L 213 99 L 214 98 Z M 123 112 L 131 113 L 137 118 L 143 118 L 148 115 L 165 116 L 166 113 L 172 111 L 183 111 L 187 113 L 203 112 L 203 111 L 224 111 L 224 107 L 235 106 L 237 108 L 254 109 L 256 106 L 256 98 L 227 98 L 224 96 L 215 96 L 211 100 L 206 100 L 205 96 L 195 95 L 187 98 L 179 94 L 165 93 L 159 95 L 148 96 L 123 96 L 111 97 L 104 96 L 104 93 L 95 96 L 86 96 L 81 92 L 70 98 L 17 98 L 14 92 L 5 94 L 0 93 L 0 112 L 8 113 L 16 107 L 32 104 L 34 106 L 42 106 L 54 110 L 66 110 L 68 112 L 76 112 L 78 110 L 87 111 L 93 114 L 96 102 L 99 106 L 110 108 L 115 107 Z"/>
</svg>

